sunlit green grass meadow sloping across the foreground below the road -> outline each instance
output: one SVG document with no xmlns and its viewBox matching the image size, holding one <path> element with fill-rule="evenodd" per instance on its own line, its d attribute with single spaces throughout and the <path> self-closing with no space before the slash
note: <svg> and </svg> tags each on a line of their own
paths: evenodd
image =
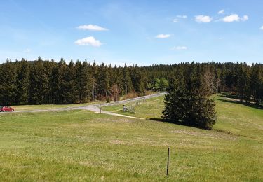
<svg viewBox="0 0 263 182">
<path fill-rule="evenodd" d="M 216 102 L 211 131 L 80 110 L 0 114 L 0 181 L 263 181 L 263 111 Z M 125 114 L 162 109 L 159 97 Z"/>
</svg>

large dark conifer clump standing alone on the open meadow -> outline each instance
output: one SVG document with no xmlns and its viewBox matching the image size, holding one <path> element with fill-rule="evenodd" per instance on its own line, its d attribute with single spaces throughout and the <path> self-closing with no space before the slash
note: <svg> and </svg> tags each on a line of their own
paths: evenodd
<svg viewBox="0 0 263 182">
<path fill-rule="evenodd" d="M 212 129 L 215 124 L 215 102 L 209 99 L 205 86 L 195 76 L 193 64 L 189 66 L 188 78 L 182 73 L 176 80 L 172 80 L 165 97 L 163 118 L 174 123 L 199 127 L 206 130 Z M 184 80 L 186 80 L 184 82 Z"/>
</svg>

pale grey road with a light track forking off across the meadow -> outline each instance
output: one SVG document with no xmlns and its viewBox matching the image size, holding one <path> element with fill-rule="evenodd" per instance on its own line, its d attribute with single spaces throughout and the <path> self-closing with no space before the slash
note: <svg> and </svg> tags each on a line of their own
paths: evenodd
<svg viewBox="0 0 263 182">
<path fill-rule="evenodd" d="M 104 104 L 91 104 L 91 105 L 87 105 L 87 106 L 71 106 L 71 107 L 67 107 L 67 108 L 57 108 L 57 109 L 36 109 L 36 110 L 30 110 L 30 111 L 15 111 L 13 113 L 36 113 L 36 112 L 48 112 L 48 111 L 68 111 L 68 110 L 73 110 L 73 109 L 83 109 L 83 110 L 88 110 L 88 111 L 93 111 L 95 113 L 104 113 L 104 114 L 109 114 L 109 115 L 113 115 L 113 116 L 121 116 L 121 117 L 126 117 L 126 118 L 136 118 L 133 116 L 126 116 L 126 115 L 121 115 L 121 114 L 117 114 L 117 113 L 111 113 L 109 111 L 100 111 L 100 107 L 102 106 L 112 106 L 112 105 L 116 105 L 116 104 L 126 104 L 127 102 L 134 102 L 134 101 L 138 101 L 138 100 L 143 100 L 143 99 L 149 99 L 152 97 L 159 97 L 161 95 L 166 94 L 166 92 L 160 92 L 158 94 L 152 94 L 152 95 L 147 95 L 147 96 L 143 96 L 143 97 L 136 97 L 133 99 L 126 99 L 126 100 L 122 100 L 122 101 L 116 101 L 116 102 L 111 102 L 111 103 L 104 103 Z M 8 113 L 8 112 L 5 112 Z M 137 119 L 142 119 L 142 118 L 137 118 Z"/>
</svg>

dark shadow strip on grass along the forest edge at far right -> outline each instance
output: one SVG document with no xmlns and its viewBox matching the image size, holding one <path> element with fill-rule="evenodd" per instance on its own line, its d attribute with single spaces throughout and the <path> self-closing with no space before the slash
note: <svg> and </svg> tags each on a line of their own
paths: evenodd
<svg viewBox="0 0 263 182">
<path fill-rule="evenodd" d="M 217 98 L 217 100 L 222 101 L 222 102 L 228 102 L 231 104 L 242 104 L 242 105 L 249 106 L 249 107 L 252 107 L 255 109 L 263 109 L 262 106 L 257 106 L 255 104 L 252 104 L 251 102 L 249 102 L 249 103 L 241 102 L 239 97 L 236 96 L 235 94 L 222 93 L 221 97 L 224 97 L 225 99 Z"/>
</svg>

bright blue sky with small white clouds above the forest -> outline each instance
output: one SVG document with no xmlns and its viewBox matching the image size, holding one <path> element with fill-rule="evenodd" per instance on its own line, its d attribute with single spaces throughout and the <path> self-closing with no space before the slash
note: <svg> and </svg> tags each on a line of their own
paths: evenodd
<svg viewBox="0 0 263 182">
<path fill-rule="evenodd" d="M 0 63 L 263 63 L 262 7 L 262 0 L 0 0 Z"/>
</svg>

